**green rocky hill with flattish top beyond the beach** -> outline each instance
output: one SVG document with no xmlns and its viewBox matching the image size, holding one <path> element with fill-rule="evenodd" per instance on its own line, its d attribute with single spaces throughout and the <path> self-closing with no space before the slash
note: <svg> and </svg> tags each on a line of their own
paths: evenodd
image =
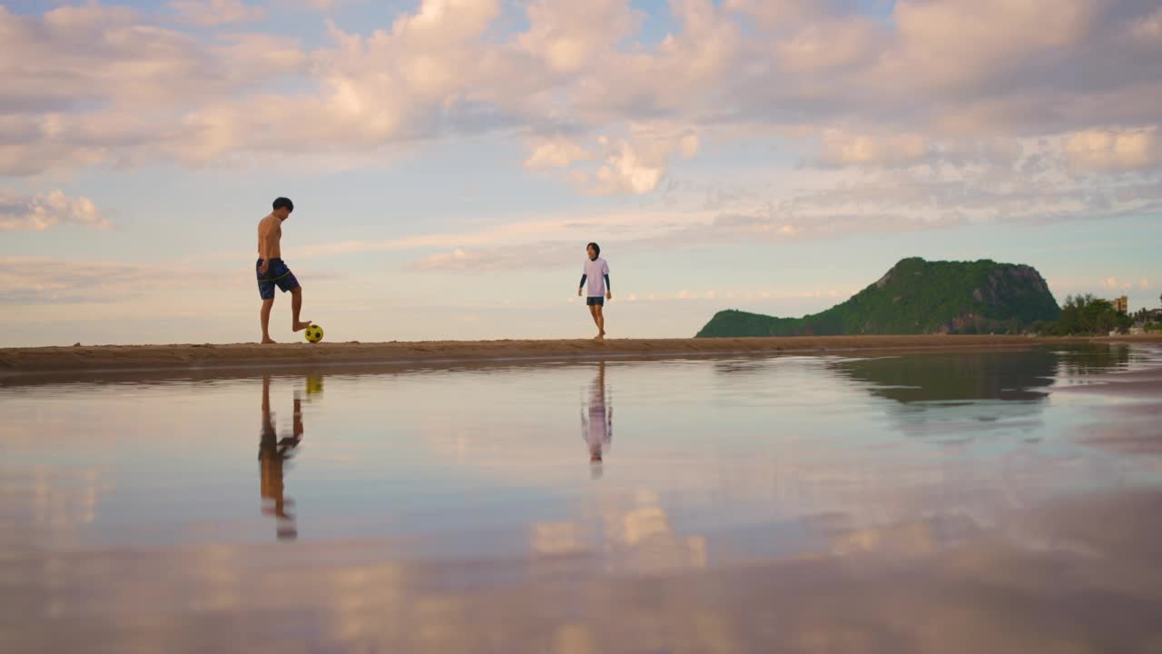
<svg viewBox="0 0 1162 654">
<path fill-rule="evenodd" d="M 1004 334 L 1060 315 L 1049 286 L 1032 266 L 912 257 L 827 311 L 803 318 L 720 311 L 696 337 Z"/>
</svg>

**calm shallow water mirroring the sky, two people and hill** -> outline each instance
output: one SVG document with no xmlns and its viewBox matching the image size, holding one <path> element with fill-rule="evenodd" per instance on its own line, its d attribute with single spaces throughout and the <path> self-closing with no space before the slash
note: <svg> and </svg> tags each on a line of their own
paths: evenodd
<svg viewBox="0 0 1162 654">
<path fill-rule="evenodd" d="M 1160 364 L 0 381 L 0 651 L 1162 651 Z"/>
</svg>

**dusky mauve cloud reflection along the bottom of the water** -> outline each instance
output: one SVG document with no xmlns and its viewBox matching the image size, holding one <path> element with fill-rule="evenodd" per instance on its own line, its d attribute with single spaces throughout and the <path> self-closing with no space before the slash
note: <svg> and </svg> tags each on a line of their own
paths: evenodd
<svg viewBox="0 0 1162 654">
<path fill-rule="evenodd" d="M 641 506 L 626 509 L 615 523 Z M 19 652 L 1149 652 L 1160 512 L 1157 491 L 1071 498 L 1000 529 L 902 523 L 716 568 L 424 562 L 383 541 L 60 553 L 0 562 L 0 637 Z M 665 533 L 644 523 L 611 538 Z M 928 545 L 949 533 L 956 547 Z"/>
</svg>

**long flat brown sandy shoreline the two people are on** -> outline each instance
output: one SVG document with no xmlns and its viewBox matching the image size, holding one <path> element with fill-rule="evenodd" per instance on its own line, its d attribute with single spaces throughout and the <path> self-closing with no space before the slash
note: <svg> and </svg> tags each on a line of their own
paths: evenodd
<svg viewBox="0 0 1162 654">
<path fill-rule="evenodd" d="M 1134 336 L 780 336 L 739 339 L 611 339 L 392 341 L 380 343 L 258 343 L 72 346 L 0 349 L 0 377 L 40 374 L 280 369 L 596 358 L 846 354 L 1017 348 L 1040 344 L 1162 343 L 1162 334 Z"/>
</svg>

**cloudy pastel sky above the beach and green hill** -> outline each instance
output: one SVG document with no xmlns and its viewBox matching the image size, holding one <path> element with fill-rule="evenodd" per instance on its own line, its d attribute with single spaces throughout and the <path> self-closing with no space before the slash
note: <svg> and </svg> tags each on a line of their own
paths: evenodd
<svg viewBox="0 0 1162 654">
<path fill-rule="evenodd" d="M 589 336 L 589 241 L 610 337 L 911 256 L 1156 307 L 1159 62 L 1145 0 L 5 0 L 0 347 L 257 341 L 279 196 L 330 341 Z"/>
</svg>

